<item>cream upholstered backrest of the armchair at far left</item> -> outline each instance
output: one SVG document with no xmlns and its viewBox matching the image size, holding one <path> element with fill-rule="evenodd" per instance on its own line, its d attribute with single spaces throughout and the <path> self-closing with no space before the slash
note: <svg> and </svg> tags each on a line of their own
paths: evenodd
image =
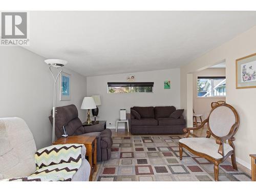
<svg viewBox="0 0 256 192">
<path fill-rule="evenodd" d="M 17 117 L 0 118 L 0 130 L 6 136 L 2 139 L 8 139 L 10 145 L 0 145 L 8 147 L 0 150 L 0 179 L 25 177 L 35 172 L 36 146 L 27 123 Z"/>
</svg>

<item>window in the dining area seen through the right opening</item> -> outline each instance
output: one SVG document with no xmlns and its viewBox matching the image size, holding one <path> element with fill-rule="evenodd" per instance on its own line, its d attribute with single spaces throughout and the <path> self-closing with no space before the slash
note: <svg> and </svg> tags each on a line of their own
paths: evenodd
<svg viewBox="0 0 256 192">
<path fill-rule="evenodd" d="M 198 97 L 225 97 L 226 77 L 198 77 Z"/>
</svg>

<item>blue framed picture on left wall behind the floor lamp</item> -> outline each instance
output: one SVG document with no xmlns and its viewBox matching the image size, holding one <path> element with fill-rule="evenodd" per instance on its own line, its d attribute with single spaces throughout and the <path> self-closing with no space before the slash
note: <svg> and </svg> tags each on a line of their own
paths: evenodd
<svg viewBox="0 0 256 192">
<path fill-rule="evenodd" d="M 71 99 L 71 96 L 70 96 L 71 95 L 71 90 L 70 90 L 71 82 L 70 82 L 70 80 L 71 80 L 70 74 L 61 72 L 60 84 L 59 84 L 59 88 L 60 88 L 59 100 L 61 100 L 61 101 Z"/>
</svg>

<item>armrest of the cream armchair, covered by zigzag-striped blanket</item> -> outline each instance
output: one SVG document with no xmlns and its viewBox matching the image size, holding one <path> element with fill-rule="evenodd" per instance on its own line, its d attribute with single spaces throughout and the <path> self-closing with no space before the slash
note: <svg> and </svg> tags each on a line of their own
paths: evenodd
<svg viewBox="0 0 256 192">
<path fill-rule="evenodd" d="M 70 163 L 83 159 L 86 147 L 83 144 L 57 144 L 41 148 L 35 153 L 36 167 L 42 168 L 60 163 Z"/>
</svg>

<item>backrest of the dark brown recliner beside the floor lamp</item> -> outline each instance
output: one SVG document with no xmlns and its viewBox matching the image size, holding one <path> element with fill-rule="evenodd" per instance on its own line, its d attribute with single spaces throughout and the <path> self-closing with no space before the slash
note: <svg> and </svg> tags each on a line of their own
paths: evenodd
<svg viewBox="0 0 256 192">
<path fill-rule="evenodd" d="M 69 136 L 84 134 L 84 127 L 78 118 L 78 111 L 74 104 L 67 106 L 58 106 L 55 115 L 55 135 L 58 138 L 63 135 L 63 126 Z M 49 117 L 52 123 L 52 116 Z"/>
</svg>

